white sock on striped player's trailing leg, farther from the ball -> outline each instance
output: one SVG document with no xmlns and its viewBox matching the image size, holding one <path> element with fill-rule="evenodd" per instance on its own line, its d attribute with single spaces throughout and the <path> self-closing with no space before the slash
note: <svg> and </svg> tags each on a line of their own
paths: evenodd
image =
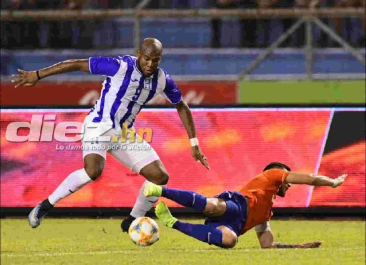
<svg viewBox="0 0 366 265">
<path fill-rule="evenodd" d="M 48 200 L 52 205 L 55 205 L 59 200 L 67 197 L 71 193 L 78 191 L 85 184 L 90 183 L 91 178 L 86 173 L 85 169 L 79 169 L 68 175 L 67 178 L 49 195 Z"/>
</svg>

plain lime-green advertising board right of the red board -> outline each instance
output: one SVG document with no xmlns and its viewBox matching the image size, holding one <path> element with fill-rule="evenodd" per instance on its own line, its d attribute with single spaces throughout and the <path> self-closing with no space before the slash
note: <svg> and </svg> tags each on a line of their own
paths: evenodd
<svg viewBox="0 0 366 265">
<path fill-rule="evenodd" d="M 243 81 L 240 103 L 365 103 L 365 80 Z"/>
</svg>

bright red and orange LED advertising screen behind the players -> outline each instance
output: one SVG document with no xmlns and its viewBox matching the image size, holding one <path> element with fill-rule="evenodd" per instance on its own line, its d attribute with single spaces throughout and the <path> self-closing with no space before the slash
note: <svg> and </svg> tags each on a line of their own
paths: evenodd
<svg viewBox="0 0 366 265">
<path fill-rule="evenodd" d="M 169 187 L 190 189 L 204 195 L 238 191 L 270 162 L 280 161 L 292 170 L 337 177 L 349 173 L 345 189 L 313 189 L 293 185 L 276 207 L 311 205 L 365 206 L 365 140 L 338 148 L 322 158 L 333 109 L 217 108 L 193 109 L 197 136 L 210 170 L 196 163 L 175 109 L 145 109 L 135 128 L 152 128 L 150 143 L 168 170 Z M 33 207 L 45 199 L 71 172 L 82 168 L 82 152 L 56 150 L 56 144 L 10 142 L 8 125 L 30 122 L 32 114 L 56 114 L 55 124 L 82 122 L 87 110 L 1 110 L 1 207 Z M 27 135 L 29 130 L 19 130 Z M 342 135 L 339 135 L 342 137 Z M 336 161 L 336 162 L 335 162 Z M 331 167 L 327 165 L 331 165 Z M 332 169 L 332 170 L 330 170 Z M 107 155 L 102 176 L 60 201 L 61 207 L 132 207 L 142 176 Z M 344 192 L 352 190 L 351 194 Z M 346 198 L 340 198 L 346 194 Z M 313 198 L 311 197 L 313 196 Z M 169 201 L 170 206 L 178 206 Z"/>
</svg>

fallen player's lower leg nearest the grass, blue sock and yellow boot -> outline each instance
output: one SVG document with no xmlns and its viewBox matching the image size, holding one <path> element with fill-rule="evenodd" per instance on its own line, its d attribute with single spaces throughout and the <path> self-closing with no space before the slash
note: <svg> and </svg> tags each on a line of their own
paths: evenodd
<svg viewBox="0 0 366 265">
<path fill-rule="evenodd" d="M 155 214 L 165 226 L 177 229 L 202 242 L 214 244 L 226 249 L 234 247 L 238 242 L 238 236 L 224 225 L 214 228 L 209 225 L 180 222 L 172 216 L 164 202 L 160 202 L 156 206 Z"/>
</svg>

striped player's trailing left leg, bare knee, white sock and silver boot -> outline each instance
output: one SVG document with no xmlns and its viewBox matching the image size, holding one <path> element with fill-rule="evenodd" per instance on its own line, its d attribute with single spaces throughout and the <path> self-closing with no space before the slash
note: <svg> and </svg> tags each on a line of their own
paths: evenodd
<svg viewBox="0 0 366 265">
<path fill-rule="evenodd" d="M 98 154 L 88 154 L 84 158 L 84 168 L 76 170 L 53 191 L 53 193 L 30 212 L 29 224 L 36 228 L 42 219 L 61 199 L 81 189 L 84 185 L 96 180 L 103 171 L 105 159 Z"/>
</svg>

